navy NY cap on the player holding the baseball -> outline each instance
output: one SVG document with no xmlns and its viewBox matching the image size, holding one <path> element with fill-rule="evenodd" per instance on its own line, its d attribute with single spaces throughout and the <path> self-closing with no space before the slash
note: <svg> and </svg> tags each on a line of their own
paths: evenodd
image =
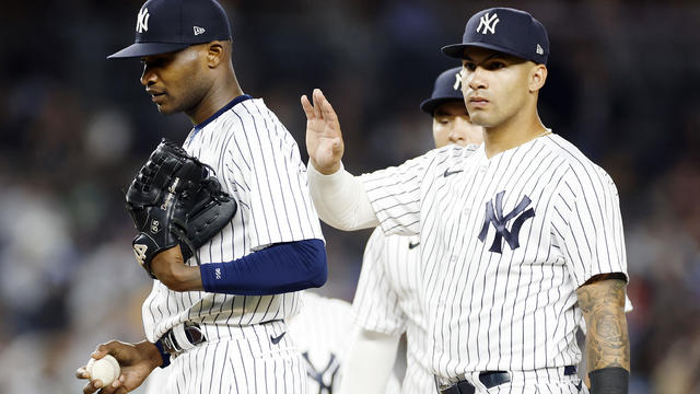
<svg viewBox="0 0 700 394">
<path fill-rule="evenodd" d="M 217 39 L 231 39 L 231 25 L 215 0 L 149 0 L 137 14 L 135 44 L 107 59 L 167 54 Z"/>
</svg>

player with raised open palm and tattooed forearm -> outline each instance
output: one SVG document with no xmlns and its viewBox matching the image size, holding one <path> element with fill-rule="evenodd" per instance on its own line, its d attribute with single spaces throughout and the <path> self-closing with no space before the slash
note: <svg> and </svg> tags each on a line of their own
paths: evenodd
<svg viewBox="0 0 700 394">
<path fill-rule="evenodd" d="M 420 234 L 429 357 L 442 393 L 579 393 L 575 332 L 587 326 L 593 393 L 627 393 L 627 259 L 614 182 L 537 114 L 549 39 L 529 13 L 493 8 L 443 53 L 481 146 L 448 146 L 354 177 L 338 117 L 302 96 L 320 218 Z M 332 204 L 329 204 L 331 202 Z"/>
</svg>

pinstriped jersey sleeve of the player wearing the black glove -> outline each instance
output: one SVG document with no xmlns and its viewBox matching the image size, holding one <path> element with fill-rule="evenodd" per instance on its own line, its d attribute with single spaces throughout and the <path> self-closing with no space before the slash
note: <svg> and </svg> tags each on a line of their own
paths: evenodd
<svg viewBox="0 0 700 394">
<path fill-rule="evenodd" d="M 243 105 L 249 115 L 243 119 L 246 127 L 228 152 L 237 175 L 243 177 L 236 185 L 244 187 L 250 250 L 281 242 L 323 240 L 296 142 L 261 101 Z"/>
</svg>

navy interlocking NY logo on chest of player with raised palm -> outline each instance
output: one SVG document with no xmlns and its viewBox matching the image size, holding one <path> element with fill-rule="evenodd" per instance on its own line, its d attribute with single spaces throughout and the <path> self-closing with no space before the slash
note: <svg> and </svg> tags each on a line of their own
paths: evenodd
<svg viewBox="0 0 700 394">
<path fill-rule="evenodd" d="M 491 201 L 486 204 L 486 218 L 483 219 L 483 227 L 479 233 L 479 241 L 483 242 L 486 240 L 490 224 L 493 224 L 495 228 L 495 237 L 493 237 L 493 243 L 491 244 L 489 252 L 501 253 L 503 244 L 502 239 L 505 239 L 508 245 L 511 246 L 511 251 L 518 248 L 521 246 L 518 241 L 521 228 L 527 219 L 535 216 L 535 209 L 530 208 L 525 210 L 525 208 L 527 208 L 532 202 L 527 196 L 523 196 L 515 209 L 503 216 L 504 194 L 505 190 L 495 195 L 495 207 Z M 515 219 L 515 221 L 513 221 L 513 225 L 511 225 L 511 230 L 509 231 L 505 227 L 512 219 Z"/>
</svg>

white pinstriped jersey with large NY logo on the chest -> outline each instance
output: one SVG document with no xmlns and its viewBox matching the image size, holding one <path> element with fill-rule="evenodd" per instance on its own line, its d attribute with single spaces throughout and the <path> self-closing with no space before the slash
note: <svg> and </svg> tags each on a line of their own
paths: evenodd
<svg viewBox="0 0 700 394">
<path fill-rule="evenodd" d="M 579 362 L 575 289 L 627 273 L 617 189 L 579 149 L 450 146 L 362 182 L 386 233 L 421 234 L 433 372 Z"/>
</svg>

